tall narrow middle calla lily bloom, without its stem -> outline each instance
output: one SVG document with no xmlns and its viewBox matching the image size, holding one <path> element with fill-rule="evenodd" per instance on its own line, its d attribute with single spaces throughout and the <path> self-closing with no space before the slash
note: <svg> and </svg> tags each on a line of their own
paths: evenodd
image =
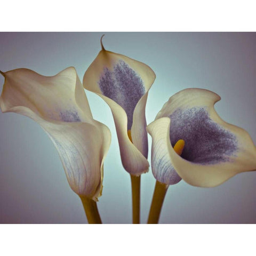
<svg viewBox="0 0 256 256">
<path fill-rule="evenodd" d="M 106 51 L 85 71 L 85 89 L 97 93 L 109 105 L 118 136 L 122 163 L 134 175 L 148 171 L 145 107 L 154 71 L 142 62 Z M 127 130 L 131 130 L 132 142 Z"/>
</svg>

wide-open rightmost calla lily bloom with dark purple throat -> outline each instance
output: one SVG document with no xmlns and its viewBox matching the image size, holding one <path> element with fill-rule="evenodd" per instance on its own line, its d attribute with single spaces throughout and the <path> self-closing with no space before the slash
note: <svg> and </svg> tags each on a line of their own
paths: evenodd
<svg viewBox="0 0 256 256">
<path fill-rule="evenodd" d="M 224 122 L 214 103 L 220 97 L 203 89 L 186 89 L 165 103 L 153 123 L 151 165 L 154 177 L 166 185 L 181 180 L 214 187 L 235 174 L 256 169 L 256 147 L 243 129 Z M 181 156 L 173 146 L 185 141 Z"/>
</svg>

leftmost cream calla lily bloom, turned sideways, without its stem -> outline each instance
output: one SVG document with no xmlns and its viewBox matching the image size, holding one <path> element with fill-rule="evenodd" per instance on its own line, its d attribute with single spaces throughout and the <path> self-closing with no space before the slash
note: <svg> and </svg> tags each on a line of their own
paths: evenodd
<svg viewBox="0 0 256 256">
<path fill-rule="evenodd" d="M 111 134 L 93 119 L 75 68 L 52 77 L 24 68 L 1 74 L 2 111 L 28 116 L 41 125 L 58 150 L 71 189 L 97 201 Z"/>
</svg>

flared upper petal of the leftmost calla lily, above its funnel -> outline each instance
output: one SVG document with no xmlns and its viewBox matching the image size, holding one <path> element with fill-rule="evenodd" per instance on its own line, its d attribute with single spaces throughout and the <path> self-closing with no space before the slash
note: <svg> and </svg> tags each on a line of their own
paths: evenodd
<svg viewBox="0 0 256 256">
<path fill-rule="evenodd" d="M 4 73 L 3 112 L 24 106 L 48 121 L 83 122 L 92 119 L 83 86 L 73 67 L 51 77 L 20 68 Z"/>
</svg>

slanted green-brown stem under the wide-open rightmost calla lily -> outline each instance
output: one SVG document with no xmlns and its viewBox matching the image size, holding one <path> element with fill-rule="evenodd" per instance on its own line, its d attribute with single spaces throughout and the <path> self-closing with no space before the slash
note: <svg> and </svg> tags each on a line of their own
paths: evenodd
<svg viewBox="0 0 256 256">
<path fill-rule="evenodd" d="M 151 207 L 148 215 L 148 224 L 158 223 L 162 205 L 164 202 L 164 197 L 168 187 L 169 185 L 156 181 L 154 195 L 153 195 L 153 199 L 152 199 L 152 203 L 151 203 Z"/>
</svg>

